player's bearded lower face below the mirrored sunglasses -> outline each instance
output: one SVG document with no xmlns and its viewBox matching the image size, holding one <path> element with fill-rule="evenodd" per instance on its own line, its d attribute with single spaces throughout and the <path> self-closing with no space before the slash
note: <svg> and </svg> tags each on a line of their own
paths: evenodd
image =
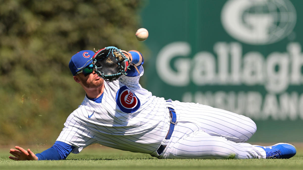
<svg viewBox="0 0 303 170">
<path fill-rule="evenodd" d="M 83 73 L 80 73 L 78 74 L 78 76 L 83 86 L 87 88 L 99 88 L 104 83 L 104 80 L 98 77 L 95 72 L 92 72 L 91 74 L 88 74 L 86 76 Z"/>
</svg>

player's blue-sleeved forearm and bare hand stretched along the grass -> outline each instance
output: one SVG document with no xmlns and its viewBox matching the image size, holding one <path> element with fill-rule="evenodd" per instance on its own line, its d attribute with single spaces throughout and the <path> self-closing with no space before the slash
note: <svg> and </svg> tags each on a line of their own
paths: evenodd
<svg viewBox="0 0 303 170">
<path fill-rule="evenodd" d="M 15 157 L 10 156 L 10 159 L 16 161 L 23 161 L 23 160 L 61 160 L 65 159 L 74 149 L 75 146 L 68 145 L 67 143 L 56 141 L 55 144 L 45 151 L 34 154 L 29 149 L 28 151 L 24 150 L 23 148 L 16 146 L 16 149 L 10 149 L 10 153 Z"/>
</svg>

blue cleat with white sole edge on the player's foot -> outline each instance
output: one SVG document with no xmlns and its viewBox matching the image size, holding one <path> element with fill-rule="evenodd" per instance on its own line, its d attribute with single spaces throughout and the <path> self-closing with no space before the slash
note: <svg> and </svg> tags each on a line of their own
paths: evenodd
<svg viewBox="0 0 303 170">
<path fill-rule="evenodd" d="M 266 159 L 289 159 L 297 153 L 297 150 L 294 145 L 289 143 L 277 143 L 272 146 L 259 146 L 265 150 Z"/>
</svg>

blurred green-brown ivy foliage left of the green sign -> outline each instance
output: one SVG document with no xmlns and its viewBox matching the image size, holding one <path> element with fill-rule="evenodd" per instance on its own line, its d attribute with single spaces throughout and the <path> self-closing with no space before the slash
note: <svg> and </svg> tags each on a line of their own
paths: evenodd
<svg viewBox="0 0 303 170">
<path fill-rule="evenodd" d="M 81 50 L 145 50 L 140 0 L 3 0 L 0 144 L 52 144 L 84 98 L 68 63 Z"/>
</svg>

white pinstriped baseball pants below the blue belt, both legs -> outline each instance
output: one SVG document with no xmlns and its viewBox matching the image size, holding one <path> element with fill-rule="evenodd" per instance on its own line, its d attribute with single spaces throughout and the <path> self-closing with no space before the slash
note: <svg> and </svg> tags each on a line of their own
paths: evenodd
<svg viewBox="0 0 303 170">
<path fill-rule="evenodd" d="M 173 103 L 178 123 L 159 158 L 266 158 L 264 150 L 243 143 L 256 131 L 248 117 L 196 103 Z"/>
</svg>

